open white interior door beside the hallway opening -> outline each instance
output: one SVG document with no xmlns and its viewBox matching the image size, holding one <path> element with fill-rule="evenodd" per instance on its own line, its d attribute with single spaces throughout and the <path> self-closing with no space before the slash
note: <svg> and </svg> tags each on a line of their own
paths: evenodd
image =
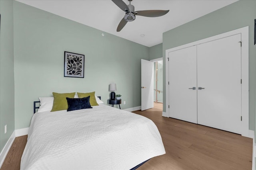
<svg viewBox="0 0 256 170">
<path fill-rule="evenodd" d="M 141 110 L 154 107 L 154 63 L 141 59 Z"/>
</svg>

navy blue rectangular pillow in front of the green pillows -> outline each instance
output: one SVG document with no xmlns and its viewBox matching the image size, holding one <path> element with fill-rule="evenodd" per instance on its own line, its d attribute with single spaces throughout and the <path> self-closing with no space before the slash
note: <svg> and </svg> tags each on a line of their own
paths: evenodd
<svg viewBox="0 0 256 170">
<path fill-rule="evenodd" d="M 68 102 L 68 110 L 80 110 L 80 109 L 88 109 L 92 108 L 90 105 L 90 96 L 86 98 L 66 98 Z"/>
</svg>

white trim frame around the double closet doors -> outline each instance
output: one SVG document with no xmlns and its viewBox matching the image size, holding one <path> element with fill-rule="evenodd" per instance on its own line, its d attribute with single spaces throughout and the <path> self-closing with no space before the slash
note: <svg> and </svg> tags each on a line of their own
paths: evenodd
<svg viewBox="0 0 256 170">
<path fill-rule="evenodd" d="M 212 37 L 208 37 L 205 39 L 201 39 L 198 41 L 194 41 L 192 43 L 188 43 L 185 45 L 180 45 L 178 47 L 174 47 L 171 49 L 167 49 L 165 52 L 166 57 L 166 115 L 169 117 L 169 88 L 168 88 L 168 74 L 169 74 L 169 64 L 168 64 L 168 55 L 172 51 L 184 49 L 187 47 L 191 47 L 194 45 L 199 45 L 202 43 L 207 43 L 210 41 L 214 41 L 217 39 L 221 39 L 224 37 L 229 37 L 232 35 L 241 34 L 241 41 L 242 41 L 242 47 L 241 47 L 241 76 L 242 76 L 242 126 L 241 126 L 241 135 L 245 137 L 249 137 L 249 26 L 242 27 L 239 29 L 235 29 L 233 31 L 229 31 L 226 33 L 222 33 L 219 35 L 214 35 Z"/>
</svg>

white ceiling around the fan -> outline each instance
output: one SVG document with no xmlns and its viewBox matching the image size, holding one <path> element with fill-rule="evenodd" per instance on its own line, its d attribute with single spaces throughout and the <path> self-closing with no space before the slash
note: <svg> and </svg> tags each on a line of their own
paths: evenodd
<svg viewBox="0 0 256 170">
<path fill-rule="evenodd" d="M 116 32 L 116 27 L 124 17 L 124 11 L 111 0 L 17 1 L 152 47 L 162 43 L 162 33 L 237 0 L 133 0 L 131 4 L 135 6 L 135 11 L 170 10 L 170 12 L 156 18 L 136 16 L 136 20 L 128 22 L 120 32 Z M 129 3 L 128 0 L 124 0 L 124 2 Z M 145 36 L 141 37 L 142 34 Z"/>
</svg>

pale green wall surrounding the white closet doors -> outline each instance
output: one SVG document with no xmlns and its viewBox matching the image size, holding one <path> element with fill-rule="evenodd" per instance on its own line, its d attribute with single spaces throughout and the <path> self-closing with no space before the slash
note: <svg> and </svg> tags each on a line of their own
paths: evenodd
<svg viewBox="0 0 256 170">
<path fill-rule="evenodd" d="M 254 45 L 254 19 L 256 1 L 240 0 L 210 14 L 190 21 L 163 34 L 163 54 L 167 49 L 198 41 L 249 25 L 249 129 L 255 129 L 255 64 L 256 46 Z M 165 70 L 165 57 L 164 70 Z M 164 89 L 165 87 L 164 71 Z M 164 93 L 164 111 L 166 111 Z"/>
</svg>

